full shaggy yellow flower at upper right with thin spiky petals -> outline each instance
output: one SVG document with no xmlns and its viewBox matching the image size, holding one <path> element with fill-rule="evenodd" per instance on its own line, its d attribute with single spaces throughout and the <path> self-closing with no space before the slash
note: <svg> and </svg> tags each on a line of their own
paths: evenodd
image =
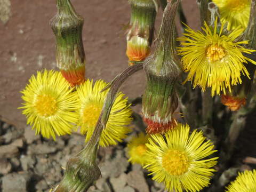
<svg viewBox="0 0 256 192">
<path fill-rule="evenodd" d="M 193 86 L 199 85 L 202 91 L 205 87 L 212 88 L 212 96 L 220 94 L 226 89 L 230 92 L 230 85 L 241 84 L 241 73 L 249 78 L 249 73 L 243 63 L 250 61 L 243 53 L 252 53 L 254 50 L 245 49 L 242 44 L 248 41 L 236 42 L 243 29 L 235 29 L 229 35 L 222 34 L 223 25 L 217 32 L 217 19 L 214 29 L 207 24 L 201 31 L 187 28 L 187 33 L 178 38 L 183 47 L 178 47 L 182 55 L 183 70 L 188 72 L 186 81 L 193 81 Z"/>
</svg>

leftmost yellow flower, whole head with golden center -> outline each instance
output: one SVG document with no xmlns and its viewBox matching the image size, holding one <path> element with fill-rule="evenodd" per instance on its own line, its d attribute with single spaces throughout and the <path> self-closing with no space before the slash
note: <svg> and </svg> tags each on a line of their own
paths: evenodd
<svg viewBox="0 0 256 192">
<path fill-rule="evenodd" d="M 44 70 L 38 71 L 36 77 L 31 76 L 21 91 L 25 103 L 20 108 L 24 109 L 22 113 L 28 118 L 27 123 L 33 124 L 36 134 L 55 140 L 55 134 L 71 133 L 78 119 L 73 112 L 77 108 L 77 96 L 72 91 L 60 72 Z"/>
</svg>

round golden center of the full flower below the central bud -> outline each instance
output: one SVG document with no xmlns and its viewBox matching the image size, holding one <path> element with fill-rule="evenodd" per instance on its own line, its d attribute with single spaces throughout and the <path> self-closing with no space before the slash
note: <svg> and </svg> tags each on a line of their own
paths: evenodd
<svg viewBox="0 0 256 192">
<path fill-rule="evenodd" d="M 182 151 L 168 150 L 162 158 L 162 165 L 171 175 L 182 175 L 188 171 L 188 157 Z"/>
</svg>

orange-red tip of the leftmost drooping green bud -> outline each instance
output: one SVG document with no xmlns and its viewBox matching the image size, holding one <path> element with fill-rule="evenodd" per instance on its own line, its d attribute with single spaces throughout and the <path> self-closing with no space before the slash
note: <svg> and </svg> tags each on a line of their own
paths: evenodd
<svg viewBox="0 0 256 192">
<path fill-rule="evenodd" d="M 61 74 L 70 83 L 71 86 L 80 85 L 85 81 L 85 68 L 76 70 L 60 70 Z"/>
</svg>

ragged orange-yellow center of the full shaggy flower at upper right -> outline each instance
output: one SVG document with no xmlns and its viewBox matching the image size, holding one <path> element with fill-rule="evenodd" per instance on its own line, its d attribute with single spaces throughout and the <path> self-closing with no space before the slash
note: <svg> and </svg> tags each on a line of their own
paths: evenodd
<svg viewBox="0 0 256 192">
<path fill-rule="evenodd" d="M 210 45 L 206 50 L 206 57 L 209 61 L 219 61 L 225 56 L 225 51 L 222 46 L 217 44 Z"/>
</svg>

